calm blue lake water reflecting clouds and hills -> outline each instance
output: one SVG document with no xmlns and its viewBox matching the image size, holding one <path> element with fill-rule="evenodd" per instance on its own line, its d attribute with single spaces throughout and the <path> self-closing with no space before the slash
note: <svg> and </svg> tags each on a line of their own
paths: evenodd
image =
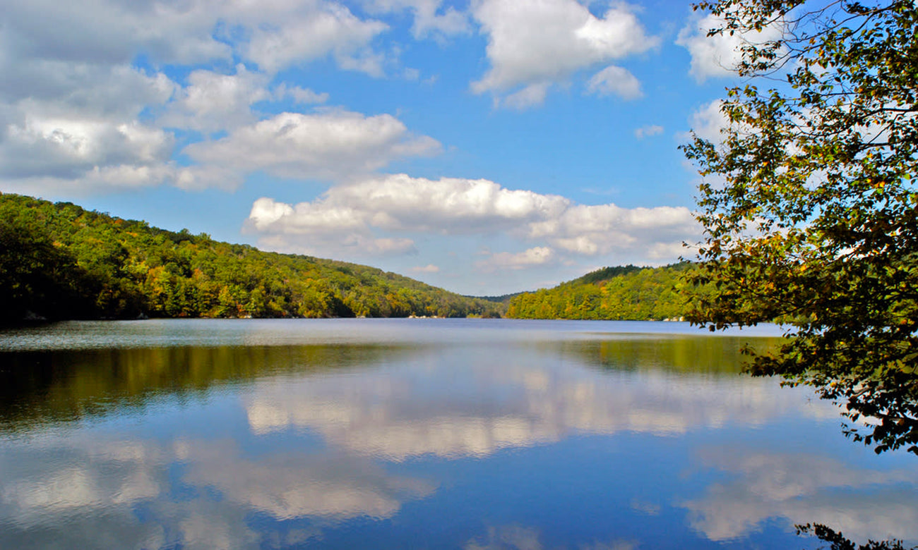
<svg viewBox="0 0 918 550">
<path fill-rule="evenodd" d="M 0 332 L 0 548 L 918 542 L 918 458 L 739 374 L 773 327 L 196 320 Z"/>
</svg>

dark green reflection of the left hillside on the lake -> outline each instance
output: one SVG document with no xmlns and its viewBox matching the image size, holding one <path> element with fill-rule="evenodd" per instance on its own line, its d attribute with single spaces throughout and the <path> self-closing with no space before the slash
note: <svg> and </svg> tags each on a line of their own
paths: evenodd
<svg viewBox="0 0 918 550">
<path fill-rule="evenodd" d="M 141 347 L 0 354 L 0 431 L 186 398 L 274 375 L 360 367 L 409 347 Z"/>
</svg>

